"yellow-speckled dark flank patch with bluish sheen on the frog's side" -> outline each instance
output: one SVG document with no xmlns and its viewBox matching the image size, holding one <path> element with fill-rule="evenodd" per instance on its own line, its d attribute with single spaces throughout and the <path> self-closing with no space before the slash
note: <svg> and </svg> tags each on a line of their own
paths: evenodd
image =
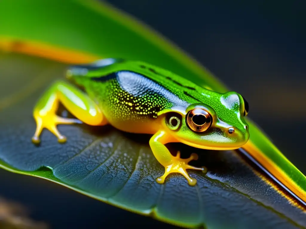
<svg viewBox="0 0 306 229">
<path fill-rule="evenodd" d="M 105 77 L 91 78 L 91 81 L 97 83 L 91 84 L 88 89 L 94 93 L 102 107 L 107 107 L 107 116 L 113 116 L 117 120 L 157 118 L 159 111 L 169 109 L 175 104 L 188 106 L 143 75 L 131 71 L 118 71 L 112 73 L 111 77 L 107 80 Z"/>
</svg>

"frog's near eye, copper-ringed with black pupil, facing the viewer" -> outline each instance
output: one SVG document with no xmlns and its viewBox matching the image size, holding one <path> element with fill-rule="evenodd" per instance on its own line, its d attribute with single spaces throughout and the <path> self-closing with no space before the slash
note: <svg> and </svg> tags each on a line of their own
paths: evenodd
<svg viewBox="0 0 306 229">
<path fill-rule="evenodd" d="M 195 108 L 188 112 L 186 123 L 193 131 L 204 132 L 211 127 L 212 117 L 204 109 Z"/>
</svg>

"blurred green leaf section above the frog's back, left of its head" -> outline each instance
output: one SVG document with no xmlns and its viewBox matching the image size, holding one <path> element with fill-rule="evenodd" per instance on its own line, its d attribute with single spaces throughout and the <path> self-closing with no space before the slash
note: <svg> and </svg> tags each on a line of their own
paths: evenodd
<svg viewBox="0 0 306 229">
<path fill-rule="evenodd" d="M 73 60 L 74 63 L 108 57 L 143 60 L 180 75 L 188 75 L 201 84 L 203 78 L 199 75 L 205 76 L 204 81 L 210 87 L 225 90 L 210 72 L 161 35 L 105 2 L 2 0 L 0 21 L 0 45 L 1 41 L 4 42 L 9 50 L 19 48 L 47 55 L 54 53 L 54 47 L 58 47 L 88 54 L 87 57 L 76 58 L 77 53 L 69 52 L 66 59 L 61 58 L 62 61 Z M 39 45 L 41 49 L 52 46 L 47 52 L 27 50 L 24 42 Z"/>
</svg>

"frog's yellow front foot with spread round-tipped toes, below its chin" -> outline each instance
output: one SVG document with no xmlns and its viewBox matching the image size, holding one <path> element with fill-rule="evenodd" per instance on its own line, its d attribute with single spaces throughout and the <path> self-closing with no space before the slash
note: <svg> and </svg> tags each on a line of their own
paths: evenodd
<svg viewBox="0 0 306 229">
<path fill-rule="evenodd" d="M 180 158 L 180 156 L 181 156 L 180 151 L 177 151 L 177 155 L 175 157 L 171 155 L 171 157 L 172 157 L 171 162 L 172 163 L 170 165 L 165 166 L 165 173 L 164 173 L 164 175 L 162 175 L 161 177 L 158 177 L 156 179 L 157 183 L 163 184 L 165 182 L 166 177 L 170 173 L 181 173 L 187 179 L 188 184 L 191 185 L 191 186 L 194 186 L 194 185 L 196 185 L 196 179 L 191 178 L 188 175 L 188 173 L 186 172 L 186 169 L 201 170 L 203 173 L 207 172 L 207 169 L 205 167 L 194 167 L 194 166 L 188 165 L 188 162 L 198 159 L 197 154 L 193 153 L 187 159 L 182 159 L 182 158 Z"/>
</svg>

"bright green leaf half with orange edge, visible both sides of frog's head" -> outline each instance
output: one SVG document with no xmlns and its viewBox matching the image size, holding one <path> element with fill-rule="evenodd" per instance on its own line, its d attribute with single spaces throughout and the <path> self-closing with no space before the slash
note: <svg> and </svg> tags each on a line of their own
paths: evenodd
<svg viewBox="0 0 306 229">
<path fill-rule="evenodd" d="M 225 85 L 175 45 L 104 2 L 2 0 L 0 21 L 0 48 L 8 51 L 65 63 L 106 57 L 142 60 L 217 92 L 227 91 Z M 246 120 L 250 140 L 244 149 L 306 205 L 306 177 L 252 120 Z"/>
</svg>

